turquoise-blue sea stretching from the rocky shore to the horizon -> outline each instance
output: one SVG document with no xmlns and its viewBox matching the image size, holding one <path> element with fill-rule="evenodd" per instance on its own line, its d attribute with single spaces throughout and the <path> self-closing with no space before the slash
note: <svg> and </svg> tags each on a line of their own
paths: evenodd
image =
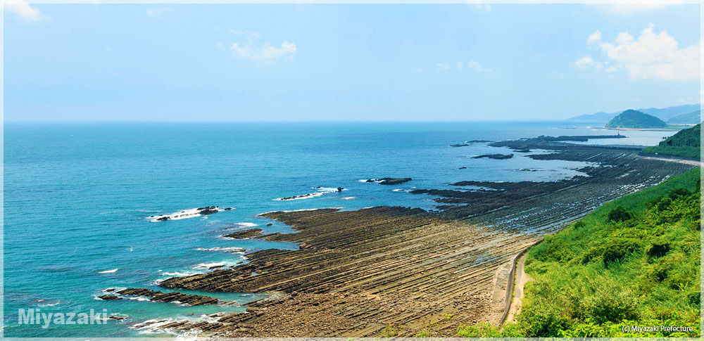
<svg viewBox="0 0 704 341">
<path fill-rule="evenodd" d="M 244 311 L 256 293 L 206 294 L 230 306 L 96 299 L 106 288 L 152 288 L 169 276 L 246 262 L 292 243 L 227 240 L 227 231 L 287 226 L 257 217 L 273 210 L 377 205 L 434 207 L 413 188 L 451 188 L 461 180 L 555 181 L 584 162 L 472 159 L 512 153 L 467 140 L 538 135 L 616 134 L 566 122 L 437 123 L 106 123 L 4 125 L 4 335 L 97 337 L 163 335 L 134 328 L 158 318 L 206 319 Z M 567 129 L 572 127 L 573 129 Z M 575 129 L 577 128 L 577 129 Z M 653 145 L 672 132 L 622 131 L 629 139 L 590 143 Z M 534 150 L 532 153 L 546 153 Z M 467 167 L 466 169 L 458 169 Z M 539 172 L 521 172 L 533 168 Z M 396 186 L 360 179 L 412 177 Z M 316 186 L 322 186 L 315 188 Z M 301 200 L 275 198 L 345 191 Z M 237 207 L 209 216 L 152 222 L 155 214 L 194 207 Z M 266 226 L 273 223 L 272 226 Z M 233 247 L 244 249 L 242 252 Z M 168 290 L 163 290 L 168 291 Z M 199 293 L 199 292 L 196 292 Z M 104 325 L 19 325 L 18 309 L 129 316 Z"/>
</svg>

